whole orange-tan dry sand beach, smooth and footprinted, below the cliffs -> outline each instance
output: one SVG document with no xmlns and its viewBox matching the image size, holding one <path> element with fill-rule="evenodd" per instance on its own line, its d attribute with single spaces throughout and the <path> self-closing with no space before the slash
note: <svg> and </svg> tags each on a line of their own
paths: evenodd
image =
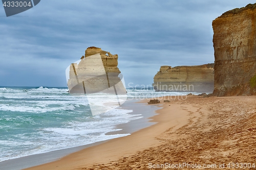
<svg viewBox="0 0 256 170">
<path fill-rule="evenodd" d="M 255 104 L 256 96 L 170 100 L 151 127 L 28 169 L 166 169 L 179 163 L 186 163 L 183 169 L 220 169 L 220 163 L 222 169 L 248 169 L 228 163 L 256 163 Z"/>
</svg>

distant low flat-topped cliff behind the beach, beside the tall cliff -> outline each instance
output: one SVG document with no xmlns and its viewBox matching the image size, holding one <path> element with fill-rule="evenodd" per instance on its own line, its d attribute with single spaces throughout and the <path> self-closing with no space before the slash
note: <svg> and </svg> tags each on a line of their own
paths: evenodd
<svg viewBox="0 0 256 170">
<path fill-rule="evenodd" d="M 214 90 L 214 64 L 196 66 L 161 66 L 154 77 L 156 91 L 196 91 Z"/>
</svg>

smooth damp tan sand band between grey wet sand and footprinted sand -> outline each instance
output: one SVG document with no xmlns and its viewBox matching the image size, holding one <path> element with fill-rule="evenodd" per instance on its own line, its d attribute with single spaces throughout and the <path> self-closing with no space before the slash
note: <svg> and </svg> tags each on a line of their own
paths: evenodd
<svg viewBox="0 0 256 170">
<path fill-rule="evenodd" d="M 163 99 L 165 98 L 163 97 Z M 145 105 L 145 102 L 148 101 L 144 100 L 138 103 Z M 173 120 L 169 119 L 169 114 L 166 111 L 169 108 L 163 107 L 162 105 L 167 104 L 162 101 L 156 105 L 145 105 L 147 107 L 162 107 L 157 110 L 157 115 L 149 117 L 151 119 L 149 122 L 155 122 L 152 126 L 140 129 L 129 136 L 110 139 L 104 143 L 72 153 L 60 160 L 26 169 L 81 169 L 82 167 L 88 167 L 93 164 L 112 162 L 116 159 L 131 156 L 138 151 L 156 147 L 164 142 L 158 139 L 158 134 L 164 132 L 166 129 L 170 129 L 170 124 L 172 131 L 175 131 L 189 122 L 189 112 L 186 110 L 181 112 L 179 110 L 180 108 L 178 108 L 179 104 L 173 107 L 173 113 L 175 114 Z"/>
</svg>

